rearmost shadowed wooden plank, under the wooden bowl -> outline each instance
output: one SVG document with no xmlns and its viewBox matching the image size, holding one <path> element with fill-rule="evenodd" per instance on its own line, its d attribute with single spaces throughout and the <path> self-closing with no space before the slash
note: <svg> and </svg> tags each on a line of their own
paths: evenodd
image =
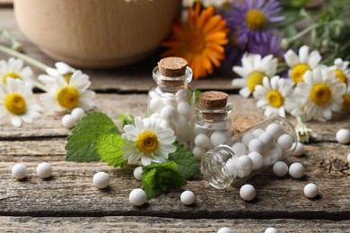
<svg viewBox="0 0 350 233">
<path fill-rule="evenodd" d="M 31 43 L 19 30 L 13 14 L 13 9 L 0 9 L 0 28 L 9 30 L 16 39 L 23 43 L 24 53 L 40 62 L 53 66 L 55 60 L 43 54 L 39 47 Z M 1 41 L 0 41 L 1 42 Z M 7 59 L 8 56 L 0 54 L 0 59 Z M 97 91 L 148 91 L 155 82 L 153 82 L 152 71 L 160 59 L 160 51 L 153 56 L 144 59 L 134 65 L 127 65 L 115 69 L 91 70 L 83 69 L 92 79 L 92 89 Z M 41 73 L 34 69 L 36 74 Z M 224 73 L 216 71 L 214 75 L 206 79 L 192 82 L 192 86 L 201 90 L 229 90 L 234 91 L 231 85 L 232 72 Z"/>
</svg>

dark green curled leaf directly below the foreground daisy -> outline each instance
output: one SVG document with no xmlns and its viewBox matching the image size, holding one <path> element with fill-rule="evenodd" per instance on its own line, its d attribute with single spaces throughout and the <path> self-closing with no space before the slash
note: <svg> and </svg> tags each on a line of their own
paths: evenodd
<svg viewBox="0 0 350 233">
<path fill-rule="evenodd" d="M 174 161 L 155 163 L 143 167 L 141 185 L 150 200 L 171 188 L 185 186 L 186 178 L 178 172 Z"/>
</svg>

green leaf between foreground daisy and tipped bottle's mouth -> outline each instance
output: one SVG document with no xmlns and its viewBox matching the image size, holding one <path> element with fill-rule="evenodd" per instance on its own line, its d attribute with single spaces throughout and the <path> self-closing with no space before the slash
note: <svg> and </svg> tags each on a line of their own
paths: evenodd
<svg viewBox="0 0 350 233">
<path fill-rule="evenodd" d="M 193 154 L 182 144 L 175 142 L 176 151 L 169 155 L 169 160 L 176 162 L 179 174 L 185 178 L 197 177 L 200 175 L 198 163 Z"/>
</svg>

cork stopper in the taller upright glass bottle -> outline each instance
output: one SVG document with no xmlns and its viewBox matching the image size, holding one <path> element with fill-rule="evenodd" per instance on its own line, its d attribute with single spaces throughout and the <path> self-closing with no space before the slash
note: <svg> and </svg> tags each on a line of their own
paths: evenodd
<svg viewBox="0 0 350 233">
<path fill-rule="evenodd" d="M 176 56 L 162 58 L 158 62 L 159 73 L 166 77 L 179 77 L 186 73 L 188 62 Z"/>
</svg>

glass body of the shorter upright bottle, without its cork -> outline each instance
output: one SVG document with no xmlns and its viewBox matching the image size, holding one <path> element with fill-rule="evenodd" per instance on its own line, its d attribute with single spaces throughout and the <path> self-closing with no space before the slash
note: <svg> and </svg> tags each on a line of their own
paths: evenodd
<svg viewBox="0 0 350 233">
<path fill-rule="evenodd" d="M 193 121 L 193 140 L 191 150 L 197 160 L 201 160 L 206 151 L 223 144 L 233 135 L 232 105 L 227 103 L 225 108 L 206 109 L 195 104 Z"/>
</svg>

